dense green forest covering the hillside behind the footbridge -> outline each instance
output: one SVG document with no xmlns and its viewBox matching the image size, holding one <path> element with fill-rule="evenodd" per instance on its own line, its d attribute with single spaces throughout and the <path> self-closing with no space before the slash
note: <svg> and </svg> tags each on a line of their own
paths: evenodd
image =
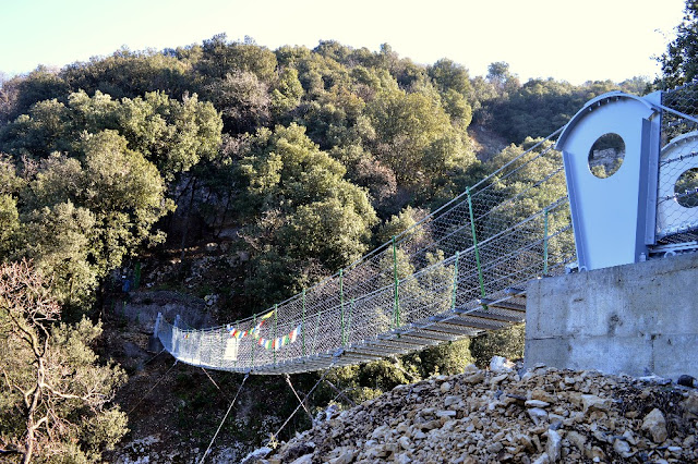
<svg viewBox="0 0 698 464">
<path fill-rule="evenodd" d="M 697 24 L 688 0 L 654 81 L 521 83 L 505 62 L 471 76 L 387 44 L 269 50 L 225 35 L 1 81 L 0 460 L 99 462 L 128 432 L 115 399 L 132 373 L 100 342 L 123 328 L 103 320 L 120 276 L 143 269 L 152 289 L 198 296 L 216 286 L 218 322 L 260 312 L 419 221 L 590 98 L 693 81 Z M 193 251 L 209 243 L 219 280 L 192 281 Z M 520 356 L 521 337 L 330 378 L 360 401 L 494 350 Z"/>
</svg>

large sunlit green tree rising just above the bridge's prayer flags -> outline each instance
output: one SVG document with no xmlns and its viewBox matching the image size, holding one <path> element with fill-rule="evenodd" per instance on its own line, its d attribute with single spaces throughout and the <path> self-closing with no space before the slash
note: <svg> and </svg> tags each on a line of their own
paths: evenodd
<svg viewBox="0 0 698 464">
<path fill-rule="evenodd" d="M 274 254 L 304 262 L 302 280 L 309 272 L 317 274 L 317 266 L 320 274 L 332 273 L 365 252 L 376 221 L 365 191 L 342 179 L 345 168 L 320 150 L 302 126 L 260 131 L 239 170 L 241 210 L 257 218 L 248 235 L 257 259 Z M 279 271 L 288 273 L 287 266 Z M 274 279 L 256 273 L 251 285 L 266 286 Z"/>
</svg>

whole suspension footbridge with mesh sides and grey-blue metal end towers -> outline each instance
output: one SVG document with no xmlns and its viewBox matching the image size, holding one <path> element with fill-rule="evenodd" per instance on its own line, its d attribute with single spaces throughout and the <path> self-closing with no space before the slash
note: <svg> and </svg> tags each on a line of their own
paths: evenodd
<svg viewBox="0 0 698 464">
<path fill-rule="evenodd" d="M 528 149 L 505 150 L 501 167 L 492 174 L 335 276 L 258 315 L 219 327 L 185 329 L 158 316 L 155 337 L 178 361 L 204 368 L 257 375 L 322 370 L 521 323 L 526 284 L 531 279 L 590 269 L 601 261 L 611 266 L 614 259 L 618 264 L 693 249 L 697 246 L 693 231 L 698 225 L 698 208 L 693 206 L 698 205 L 698 185 L 681 188 L 691 182 L 684 179 L 686 173 L 698 172 L 697 121 L 689 115 L 698 111 L 696 100 L 686 97 L 696 94 L 694 87 L 681 93 L 653 99 L 619 93 L 598 97 L 567 126 Z M 592 188 L 595 198 L 589 202 L 583 197 L 589 183 L 581 184 L 576 178 L 580 174 L 574 172 L 570 147 L 583 142 L 576 131 L 589 134 L 585 124 L 592 129 L 597 124 L 586 114 L 595 111 L 594 115 L 602 117 L 597 120 L 603 121 L 609 113 L 613 115 L 609 108 L 629 114 L 615 132 L 631 131 L 633 112 L 641 113 L 639 118 L 647 123 L 640 121 L 638 127 L 647 133 L 638 130 L 640 142 L 635 144 L 636 135 L 624 132 L 623 147 L 613 152 L 626 158 L 635 157 L 635 151 L 642 155 L 639 161 L 628 159 L 627 167 L 621 166 L 621 183 L 614 186 L 606 179 L 613 178 L 609 172 L 614 167 L 607 159 L 594 159 L 603 147 L 587 147 L 587 174 L 600 181 Z M 657 149 L 647 148 L 652 143 Z M 633 174 L 635 164 L 649 181 Z M 599 252 L 594 241 L 604 232 L 613 235 L 617 228 L 606 223 L 588 230 L 585 218 L 597 213 L 599 202 L 613 199 L 600 197 L 599 192 L 637 197 L 633 188 L 647 194 L 649 206 L 643 204 L 645 209 L 621 222 L 634 228 L 633 234 L 642 235 L 637 241 L 641 246 L 633 242 L 633 235 L 626 236 L 634 243 L 627 252 L 630 258 L 623 255 L 623 247 Z M 638 218 L 650 225 L 640 231 Z M 618 228 L 621 234 L 626 233 Z"/>
</svg>

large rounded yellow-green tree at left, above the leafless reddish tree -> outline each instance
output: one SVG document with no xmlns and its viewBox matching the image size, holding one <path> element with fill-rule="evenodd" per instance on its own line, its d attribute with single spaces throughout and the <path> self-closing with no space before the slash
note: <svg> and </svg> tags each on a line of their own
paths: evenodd
<svg viewBox="0 0 698 464">
<path fill-rule="evenodd" d="M 53 276 L 56 297 L 71 307 L 89 301 L 99 279 L 141 244 L 163 239 L 153 225 L 172 208 L 165 182 L 127 145 L 113 131 L 85 135 L 80 158 L 50 156 L 20 190 L 24 245 L 15 254 Z"/>
</svg>

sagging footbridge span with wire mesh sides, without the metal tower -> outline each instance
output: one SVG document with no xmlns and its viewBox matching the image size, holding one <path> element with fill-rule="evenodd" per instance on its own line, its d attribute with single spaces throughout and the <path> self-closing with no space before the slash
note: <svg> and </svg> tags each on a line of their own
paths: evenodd
<svg viewBox="0 0 698 464">
<path fill-rule="evenodd" d="M 558 133 L 500 159 L 493 174 L 286 302 L 205 330 L 160 320 L 157 337 L 184 363 L 280 374 L 520 322 L 521 295 L 510 289 L 575 259 L 562 155 L 553 149 Z"/>
</svg>

